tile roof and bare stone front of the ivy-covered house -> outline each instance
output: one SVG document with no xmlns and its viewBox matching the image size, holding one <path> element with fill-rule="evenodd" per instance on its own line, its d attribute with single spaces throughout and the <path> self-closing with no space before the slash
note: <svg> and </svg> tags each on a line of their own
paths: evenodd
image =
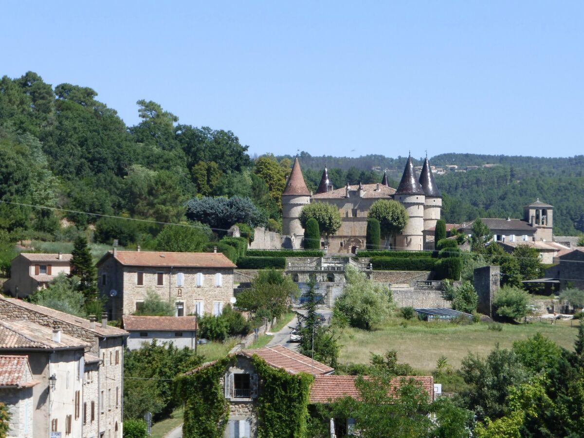
<svg viewBox="0 0 584 438">
<path fill-rule="evenodd" d="M 235 353 L 235 363 L 225 371 L 221 378 L 225 398 L 228 399 L 229 413 L 225 438 L 255 437 L 257 434 L 256 402 L 259 395 L 258 375 L 253 367 L 252 356 L 258 354 L 267 364 L 281 368 L 290 374 L 308 373 L 313 376 L 331 374 L 334 370 L 310 357 L 294 352 L 281 345 L 259 349 L 242 350 Z M 209 362 L 189 371 L 196 373 Z"/>
</svg>

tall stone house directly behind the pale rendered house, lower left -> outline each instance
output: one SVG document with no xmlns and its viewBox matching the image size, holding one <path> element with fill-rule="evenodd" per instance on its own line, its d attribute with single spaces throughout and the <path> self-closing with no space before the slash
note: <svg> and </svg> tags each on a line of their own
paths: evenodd
<svg viewBox="0 0 584 438">
<path fill-rule="evenodd" d="M 86 343 L 88 347 L 85 348 L 84 363 L 87 363 L 87 380 L 84 382 L 82 398 L 82 412 L 86 413 L 86 422 L 83 436 L 114 437 L 116 432 L 117 436 L 122 436 L 123 353 L 128 336 L 126 331 L 107 325 L 106 317 L 98 324 L 95 318 L 79 318 L 48 307 L 2 297 L 0 319 L 27 319 L 51 329 L 58 326 L 64 335 Z"/>
</svg>

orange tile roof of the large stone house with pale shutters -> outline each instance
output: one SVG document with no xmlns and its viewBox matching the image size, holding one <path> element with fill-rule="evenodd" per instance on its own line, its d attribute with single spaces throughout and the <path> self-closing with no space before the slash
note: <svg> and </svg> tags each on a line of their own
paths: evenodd
<svg viewBox="0 0 584 438">
<path fill-rule="evenodd" d="M 117 251 L 115 259 L 125 266 L 237 267 L 220 252 Z"/>
</svg>

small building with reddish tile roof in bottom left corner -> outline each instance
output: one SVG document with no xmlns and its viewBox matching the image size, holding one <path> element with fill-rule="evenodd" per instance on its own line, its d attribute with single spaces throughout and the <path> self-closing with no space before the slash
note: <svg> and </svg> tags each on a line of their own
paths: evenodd
<svg viewBox="0 0 584 438">
<path fill-rule="evenodd" d="M 8 406 L 9 438 L 32 438 L 33 387 L 39 383 L 34 380 L 28 356 L 0 356 L 0 401 Z"/>
</svg>

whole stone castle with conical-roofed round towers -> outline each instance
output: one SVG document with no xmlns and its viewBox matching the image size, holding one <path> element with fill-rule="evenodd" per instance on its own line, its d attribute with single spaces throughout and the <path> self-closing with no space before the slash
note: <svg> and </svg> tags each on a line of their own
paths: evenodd
<svg viewBox="0 0 584 438">
<path fill-rule="evenodd" d="M 408 158 L 404 174 L 397 189 L 388 186 L 387 173 L 381 183 L 346 185 L 334 189 L 325 167 L 317 192 L 312 194 L 304 183 L 298 158 L 294 161 L 290 177 L 282 193 L 283 234 L 289 235 L 294 248 L 300 248 L 304 234 L 298 217 L 302 208 L 311 202 L 335 205 L 340 212 L 342 225 L 335 235 L 322 246 L 333 253 L 354 253 L 366 247 L 367 213 L 371 204 L 380 199 L 394 199 L 404 205 L 409 215 L 408 225 L 394 241 L 391 248 L 419 251 L 424 249 L 426 228 L 434 227 L 440 219 L 442 194 L 436 186 L 428 159 L 424 161 L 420 178 Z"/>
</svg>

